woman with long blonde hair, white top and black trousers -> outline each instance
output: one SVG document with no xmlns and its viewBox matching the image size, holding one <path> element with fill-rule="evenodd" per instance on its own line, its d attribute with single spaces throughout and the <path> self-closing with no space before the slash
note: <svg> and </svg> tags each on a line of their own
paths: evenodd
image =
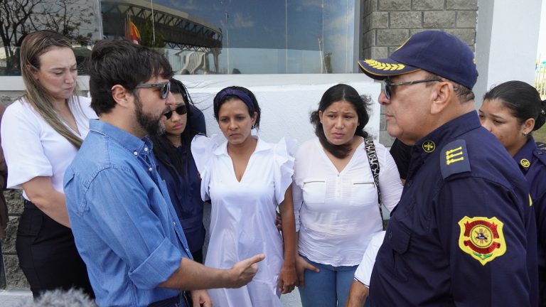
<svg viewBox="0 0 546 307">
<path fill-rule="evenodd" d="M 34 298 L 52 289 L 81 288 L 93 296 L 77 253 L 65 206 L 65 169 L 97 115 L 90 99 L 73 95 L 77 67 L 72 44 L 52 31 L 31 33 L 21 44 L 26 93 L 4 113 L 1 139 L 8 188 L 22 188 L 17 230 L 19 266 Z"/>
</svg>

